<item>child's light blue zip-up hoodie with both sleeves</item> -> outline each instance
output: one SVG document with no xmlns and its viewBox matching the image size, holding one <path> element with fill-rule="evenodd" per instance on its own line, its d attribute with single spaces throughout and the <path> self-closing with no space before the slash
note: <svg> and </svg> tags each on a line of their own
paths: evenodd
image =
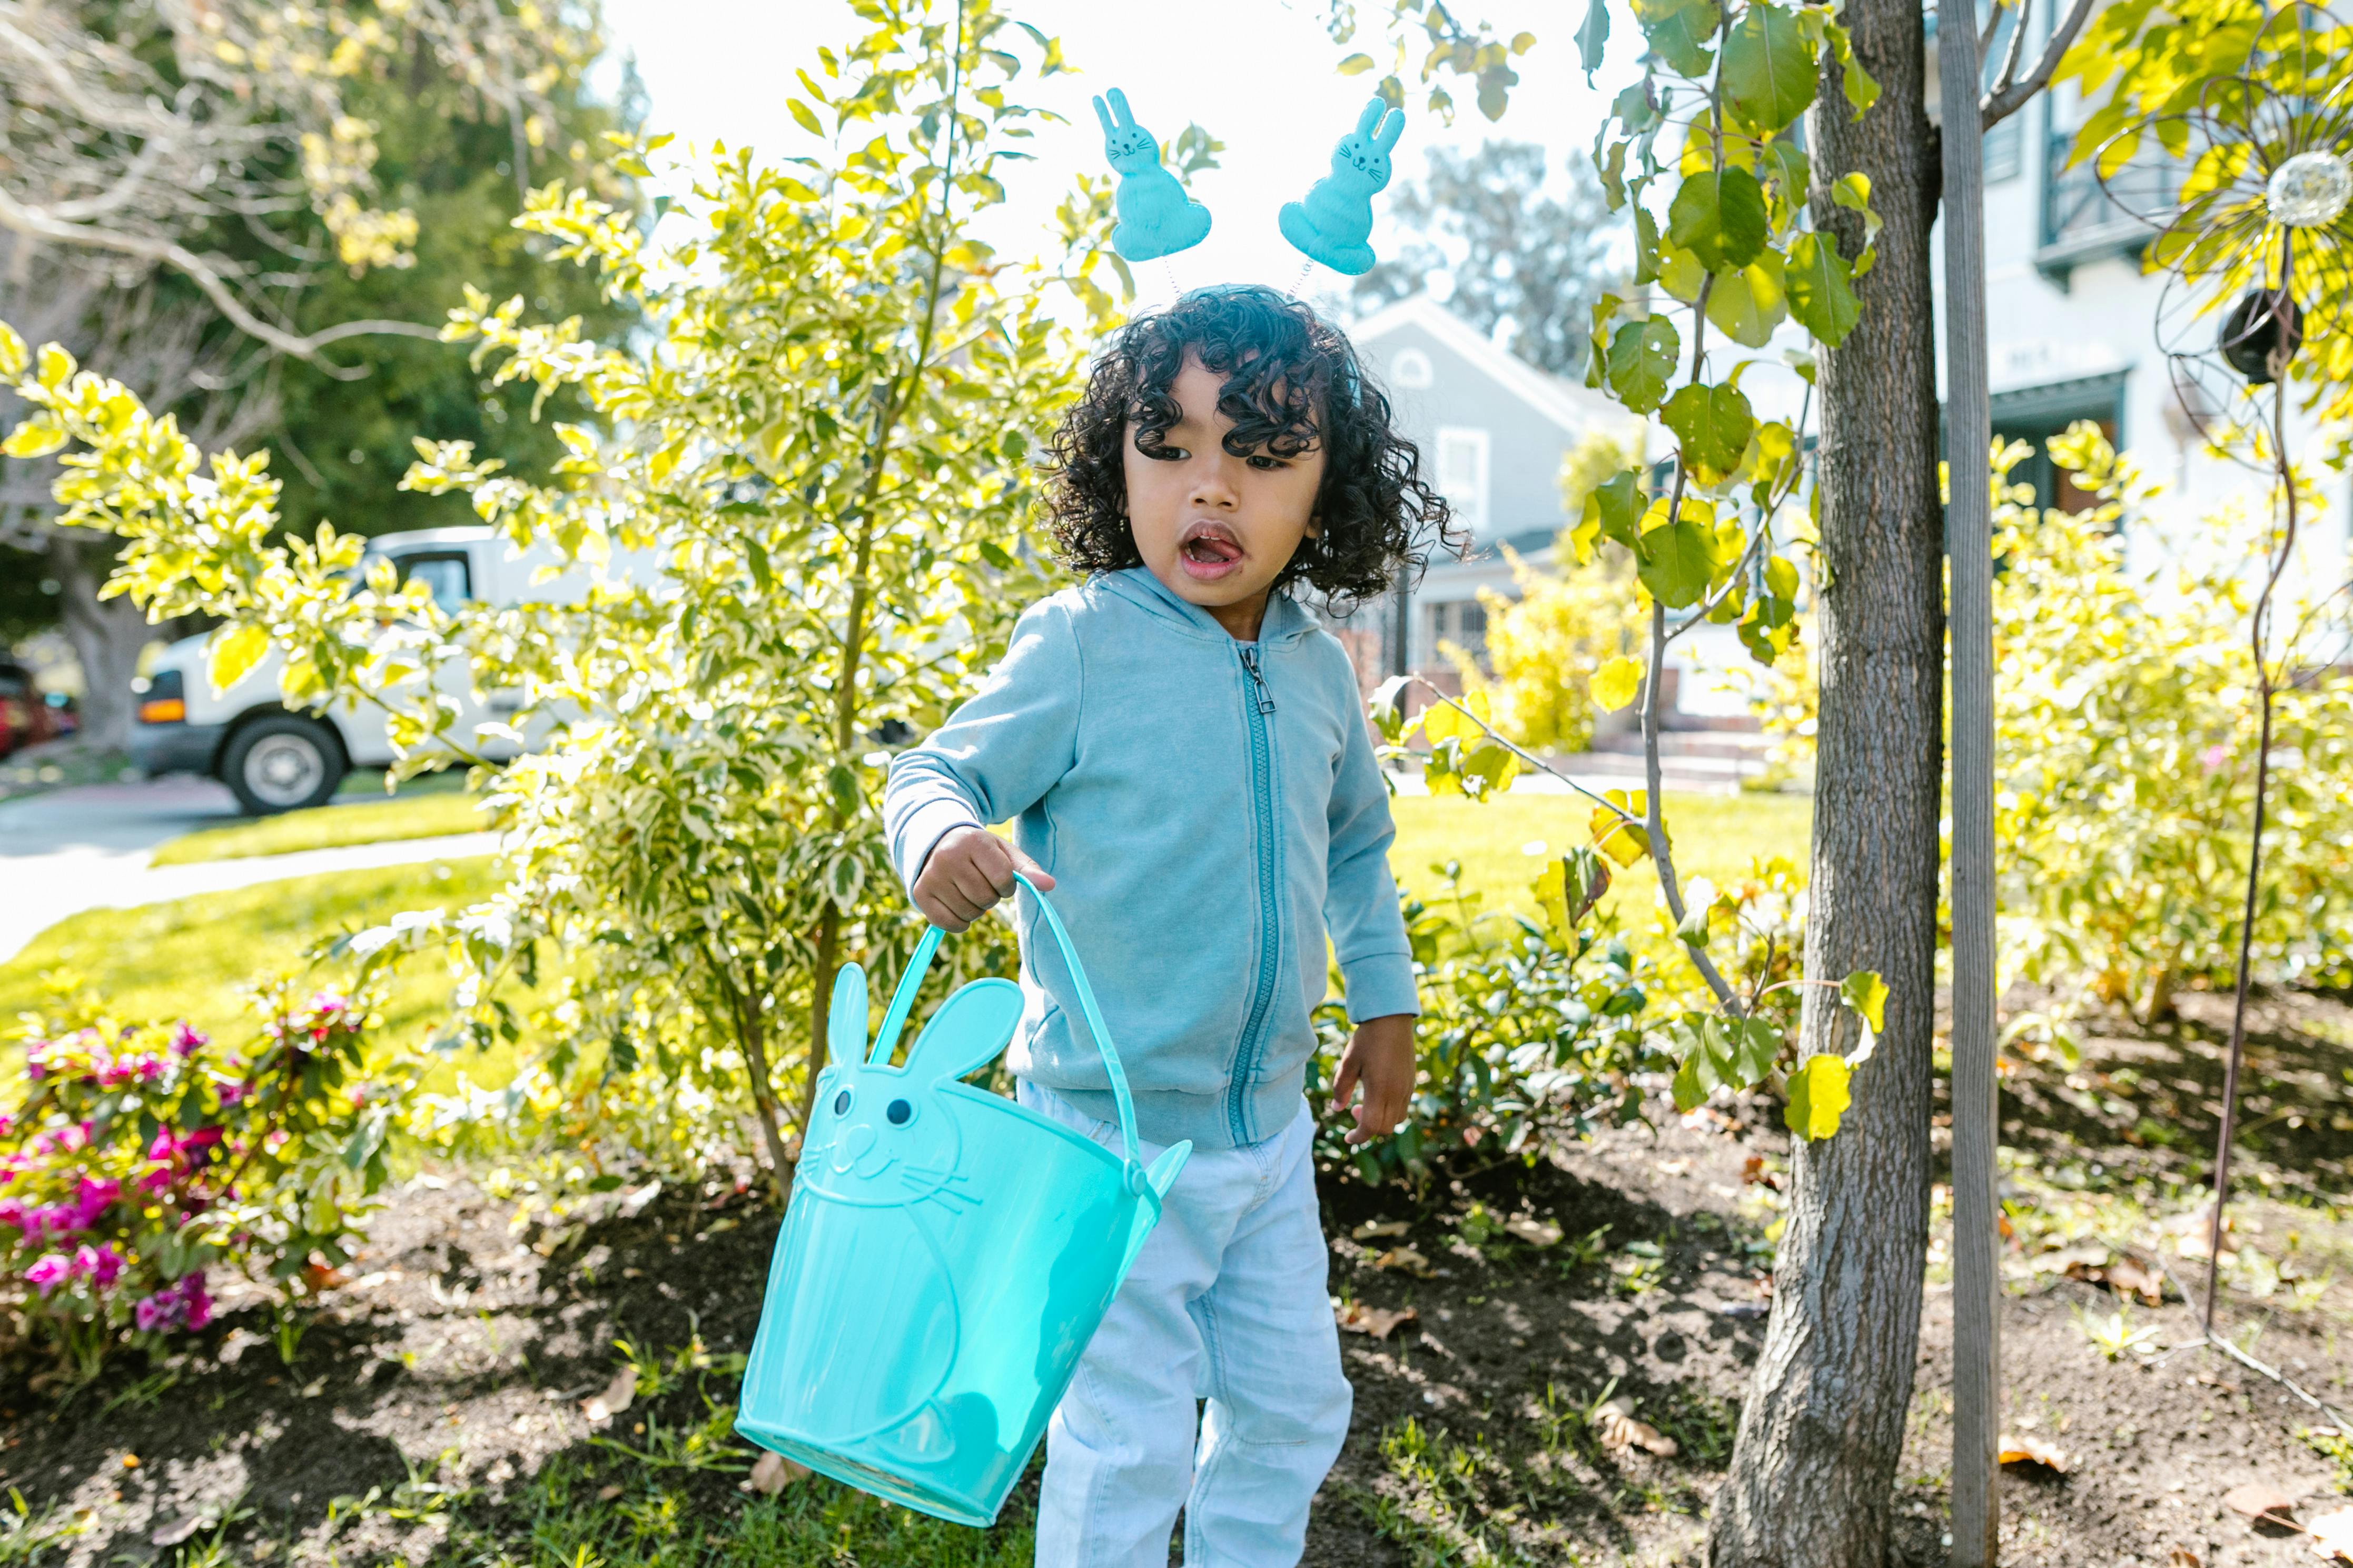
<svg viewBox="0 0 2353 1568">
<path fill-rule="evenodd" d="M 892 759 L 892 865 L 1014 818 L 1054 877 L 1151 1143 L 1233 1147 L 1299 1107 L 1325 933 L 1348 1018 L 1419 1013 L 1388 790 L 1339 642 L 1275 595 L 1240 642 L 1144 567 L 1031 604 L 1005 661 Z M 1019 896 L 1016 1077 L 1111 1121 L 1068 969 Z"/>
</svg>

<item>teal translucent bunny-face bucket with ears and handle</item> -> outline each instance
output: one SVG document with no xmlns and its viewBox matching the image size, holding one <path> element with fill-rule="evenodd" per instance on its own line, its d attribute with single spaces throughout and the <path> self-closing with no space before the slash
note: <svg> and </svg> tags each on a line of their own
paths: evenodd
<svg viewBox="0 0 2353 1568">
<path fill-rule="evenodd" d="M 993 1060 L 1021 987 L 972 980 L 906 1065 L 892 1053 L 939 929 L 866 1051 L 866 976 L 833 985 L 831 1058 L 767 1269 L 736 1432 L 809 1469 L 955 1523 L 993 1523 L 1193 1145 L 1136 1159 L 1120 1053 L 1054 907 L 1120 1107 L 1120 1154 L 958 1079 Z"/>
</svg>

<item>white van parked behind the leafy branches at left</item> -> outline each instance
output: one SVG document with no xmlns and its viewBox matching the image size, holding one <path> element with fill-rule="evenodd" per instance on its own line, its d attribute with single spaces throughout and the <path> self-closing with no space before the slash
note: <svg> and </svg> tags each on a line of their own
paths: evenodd
<svg viewBox="0 0 2353 1568">
<path fill-rule="evenodd" d="M 424 581 L 442 609 L 466 602 L 576 604 L 591 581 L 652 583 L 659 574 L 654 552 L 616 550 L 600 571 L 569 567 L 534 583 L 541 569 L 555 567 L 555 552 L 534 545 L 518 555 L 504 534 L 487 527 L 386 534 L 369 541 L 360 574 L 376 559 L 393 562 L 402 583 Z M 207 675 L 209 642 L 212 632 L 181 637 L 134 682 L 139 719 L 132 724 L 132 759 L 148 776 L 207 773 L 235 790 L 245 811 L 271 816 L 320 806 L 351 769 L 393 762 L 384 710 L 374 703 L 344 698 L 325 708 L 287 708 L 278 698 L 285 661 L 275 649 L 235 686 L 214 693 Z M 522 705 L 522 693 L 515 691 L 492 691 L 487 703 L 475 701 L 464 665 L 447 665 L 438 684 L 459 705 L 454 733 L 461 738 L 473 736 L 475 724 L 506 724 Z M 553 724 L 539 719 L 527 741 L 544 741 L 548 729 Z M 506 759 L 520 748 L 501 738 L 473 750 Z"/>
</svg>

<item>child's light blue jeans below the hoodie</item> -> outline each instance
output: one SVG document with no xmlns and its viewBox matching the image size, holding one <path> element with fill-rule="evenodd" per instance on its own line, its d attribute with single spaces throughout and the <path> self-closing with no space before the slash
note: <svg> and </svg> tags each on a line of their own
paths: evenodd
<svg viewBox="0 0 2353 1568">
<path fill-rule="evenodd" d="M 1120 1147 L 1115 1124 L 1049 1088 L 1019 1098 Z M 1167 1568 L 1179 1507 L 1186 1568 L 1299 1561 L 1353 1401 L 1313 1145 L 1301 1100 L 1273 1138 L 1193 1150 L 1047 1427 L 1038 1568 Z"/>
</svg>

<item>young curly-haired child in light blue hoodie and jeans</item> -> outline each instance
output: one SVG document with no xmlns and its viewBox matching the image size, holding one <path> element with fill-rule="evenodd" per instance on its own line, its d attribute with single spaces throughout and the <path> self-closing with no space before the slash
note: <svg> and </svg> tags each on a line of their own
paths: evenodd
<svg viewBox="0 0 2353 1568">
<path fill-rule="evenodd" d="M 1082 581 L 889 771 L 892 860 L 962 931 L 1019 870 L 1071 929 L 1151 1161 L 1193 1159 L 1047 1429 L 1038 1563 L 1297 1563 L 1348 1432 L 1301 1093 L 1325 933 L 1355 1034 L 1351 1143 L 1405 1117 L 1414 971 L 1388 790 L 1348 654 L 1294 599 L 1377 595 L 1447 529 L 1348 341 L 1273 289 L 1122 327 L 1054 437 Z M 984 823 L 1014 820 L 1014 842 Z M 1016 900 L 1019 1095 L 1108 1147 L 1115 1105 L 1052 940 Z M 1195 1443 L 1195 1399 L 1207 1415 Z"/>
</svg>

